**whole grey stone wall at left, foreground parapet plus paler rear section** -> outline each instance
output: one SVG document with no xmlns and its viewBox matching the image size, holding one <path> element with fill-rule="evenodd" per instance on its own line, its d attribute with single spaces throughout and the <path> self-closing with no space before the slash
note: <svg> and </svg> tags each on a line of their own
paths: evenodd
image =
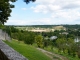
<svg viewBox="0 0 80 60">
<path fill-rule="evenodd" d="M 28 60 L 23 55 L 9 47 L 2 40 L 11 40 L 10 36 L 0 29 L 0 60 Z"/>
</svg>

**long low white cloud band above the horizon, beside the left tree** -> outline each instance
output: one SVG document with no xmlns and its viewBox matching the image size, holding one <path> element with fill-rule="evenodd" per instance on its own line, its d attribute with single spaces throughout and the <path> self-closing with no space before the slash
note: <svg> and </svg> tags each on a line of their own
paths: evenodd
<svg viewBox="0 0 80 60">
<path fill-rule="evenodd" d="M 8 20 L 5 25 L 44 25 L 44 24 L 50 24 L 51 21 L 49 18 L 42 18 L 42 19 L 36 19 L 36 20 Z"/>
</svg>

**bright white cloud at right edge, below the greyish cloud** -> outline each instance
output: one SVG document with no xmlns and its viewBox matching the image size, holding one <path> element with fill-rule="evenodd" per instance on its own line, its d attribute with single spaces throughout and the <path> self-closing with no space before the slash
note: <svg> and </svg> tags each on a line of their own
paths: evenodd
<svg viewBox="0 0 80 60">
<path fill-rule="evenodd" d="M 65 19 L 75 19 L 80 17 L 80 12 L 77 10 L 59 10 L 54 12 L 51 17 L 60 17 L 60 18 L 65 18 Z"/>
</svg>

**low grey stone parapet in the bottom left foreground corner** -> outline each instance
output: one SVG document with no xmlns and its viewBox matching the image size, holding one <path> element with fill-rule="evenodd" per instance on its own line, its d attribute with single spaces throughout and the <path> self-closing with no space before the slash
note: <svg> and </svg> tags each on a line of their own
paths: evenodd
<svg viewBox="0 0 80 60">
<path fill-rule="evenodd" d="M 28 60 L 0 39 L 0 60 Z"/>
</svg>

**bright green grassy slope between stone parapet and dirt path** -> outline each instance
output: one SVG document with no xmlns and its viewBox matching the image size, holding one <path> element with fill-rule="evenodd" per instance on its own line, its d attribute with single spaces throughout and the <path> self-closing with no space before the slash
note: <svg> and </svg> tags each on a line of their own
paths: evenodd
<svg viewBox="0 0 80 60">
<path fill-rule="evenodd" d="M 5 43 L 7 43 L 13 49 L 24 55 L 29 60 L 51 60 L 49 57 L 47 57 L 31 45 L 26 45 L 22 42 L 19 43 L 15 40 L 12 40 L 11 42 L 5 41 Z"/>
</svg>

